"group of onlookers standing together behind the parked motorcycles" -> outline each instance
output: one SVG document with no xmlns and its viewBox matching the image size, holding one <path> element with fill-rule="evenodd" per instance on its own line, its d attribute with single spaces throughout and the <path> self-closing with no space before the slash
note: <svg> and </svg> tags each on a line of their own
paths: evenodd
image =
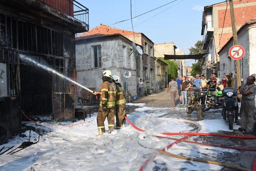
<svg viewBox="0 0 256 171">
<path fill-rule="evenodd" d="M 224 87 L 234 87 L 233 74 L 224 75 L 225 80 L 222 82 L 216 77 L 216 74 L 212 74 L 209 79 L 206 79 L 204 75 L 196 74 L 196 78 L 186 78 L 186 76 L 179 76 L 177 80 L 171 78 L 167 92 L 171 92 L 171 107 L 175 108 L 176 93 L 180 96 L 180 103 L 182 106 L 187 105 L 187 91 L 193 89 L 195 92 L 199 92 L 202 89 L 212 89 L 209 91 L 210 94 L 214 95 L 218 90 L 216 87 L 220 87 L 222 90 Z"/>
</svg>

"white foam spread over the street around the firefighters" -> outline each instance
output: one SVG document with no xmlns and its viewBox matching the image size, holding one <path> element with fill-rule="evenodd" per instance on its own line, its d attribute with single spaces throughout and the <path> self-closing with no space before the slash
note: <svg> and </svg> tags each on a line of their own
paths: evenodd
<svg viewBox="0 0 256 171">
<path fill-rule="evenodd" d="M 159 167 L 167 170 L 219 170 L 220 166 L 198 162 L 186 162 L 165 155 L 160 155 L 156 149 L 162 149 L 174 142 L 170 139 L 160 139 L 151 134 L 159 132 L 183 132 L 193 128 L 183 121 L 172 118 L 158 118 L 170 108 L 140 107 L 135 114 L 128 118 L 138 127 L 147 132 L 139 132 L 131 125 L 126 124 L 122 130 L 115 130 L 111 134 L 98 134 L 96 115 L 86 118 L 86 122 L 79 120 L 61 122 L 61 125 L 50 125 L 51 132 L 40 137 L 40 141 L 14 155 L 0 156 L 0 170 L 138 170 L 140 166 L 152 156 L 157 154 L 155 162 L 150 161 L 146 170 L 154 170 Z M 147 113 L 149 112 L 149 113 Z M 186 113 L 185 113 L 186 114 Z M 90 121 L 90 122 L 89 122 Z M 82 123 L 74 127 L 64 127 L 69 124 Z M 202 131 L 228 131 L 228 125 L 222 120 L 203 120 L 199 122 Z M 29 124 L 32 124 L 29 122 Z M 106 131 L 108 123 L 105 121 Z M 210 128 L 213 127 L 213 128 Z M 28 131 L 26 131 L 28 135 Z M 38 134 L 32 132 L 32 141 L 36 141 Z M 178 139 L 181 136 L 173 136 Z M 8 143 L 0 145 L 14 148 L 22 142 L 28 141 L 28 137 L 14 137 Z M 143 147 L 144 146 L 144 147 Z M 145 148 L 148 147 L 148 148 Z M 207 148 L 207 149 L 206 149 Z M 208 150 L 215 148 L 214 150 Z M 176 154 L 190 157 L 202 157 L 200 154 L 207 153 L 209 158 L 217 157 L 225 149 L 216 147 L 204 147 L 200 145 L 180 143 L 170 150 Z M 230 153 L 233 153 L 230 151 Z"/>
</svg>

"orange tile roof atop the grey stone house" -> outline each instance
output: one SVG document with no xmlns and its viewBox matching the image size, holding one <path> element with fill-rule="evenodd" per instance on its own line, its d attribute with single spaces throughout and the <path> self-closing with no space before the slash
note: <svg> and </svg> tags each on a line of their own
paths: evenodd
<svg viewBox="0 0 256 171">
<path fill-rule="evenodd" d="M 133 34 L 133 32 L 106 26 L 104 24 L 100 24 L 99 26 L 93 28 L 92 30 L 89 30 L 88 32 L 81 34 L 80 36 L 78 36 L 77 39 L 98 38 L 98 37 L 105 37 L 105 36 L 112 36 L 112 35 L 126 36 L 130 34 Z M 138 34 L 138 33 L 134 32 L 134 34 Z"/>
</svg>

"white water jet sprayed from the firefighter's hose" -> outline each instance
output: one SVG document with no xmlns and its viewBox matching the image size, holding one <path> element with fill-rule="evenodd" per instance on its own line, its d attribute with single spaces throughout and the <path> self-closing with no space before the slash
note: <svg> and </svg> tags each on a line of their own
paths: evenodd
<svg viewBox="0 0 256 171">
<path fill-rule="evenodd" d="M 64 78 L 64 79 L 66 79 L 66 80 L 68 80 L 68 81 L 70 81 L 70 82 L 72 82 L 72 83 L 74 83 L 74 84 L 76 84 L 76 85 L 82 87 L 83 89 L 86 89 L 87 91 L 90 91 L 91 93 L 94 93 L 94 91 L 88 89 L 87 87 L 84 87 L 83 85 L 81 85 L 81 84 L 75 82 L 74 80 L 71 80 L 70 78 L 64 76 L 63 74 L 58 73 L 57 71 L 53 70 L 53 69 L 50 68 L 50 67 L 44 66 L 44 65 L 42 65 L 42 64 L 39 64 L 38 62 L 32 60 L 31 58 L 26 57 L 25 55 L 20 54 L 19 56 L 20 56 L 20 59 L 22 59 L 22 60 L 29 61 L 29 62 L 35 64 L 36 66 L 38 66 L 38 67 L 40 67 L 40 68 L 42 68 L 42 69 L 44 69 L 44 70 L 50 71 L 50 72 L 52 72 L 53 74 L 56 74 L 56 75 L 58 75 L 58 76 L 60 76 L 60 77 L 62 77 L 62 78 Z"/>
</svg>

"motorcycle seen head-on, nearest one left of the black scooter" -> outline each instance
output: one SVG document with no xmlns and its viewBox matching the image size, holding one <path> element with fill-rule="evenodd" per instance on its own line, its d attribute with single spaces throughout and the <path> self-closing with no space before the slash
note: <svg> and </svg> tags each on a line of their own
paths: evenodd
<svg viewBox="0 0 256 171">
<path fill-rule="evenodd" d="M 202 89 L 199 96 L 199 103 L 198 103 L 198 109 L 197 109 L 197 119 L 199 121 L 202 121 L 205 116 L 207 94 L 208 94 L 208 89 Z"/>
</svg>

